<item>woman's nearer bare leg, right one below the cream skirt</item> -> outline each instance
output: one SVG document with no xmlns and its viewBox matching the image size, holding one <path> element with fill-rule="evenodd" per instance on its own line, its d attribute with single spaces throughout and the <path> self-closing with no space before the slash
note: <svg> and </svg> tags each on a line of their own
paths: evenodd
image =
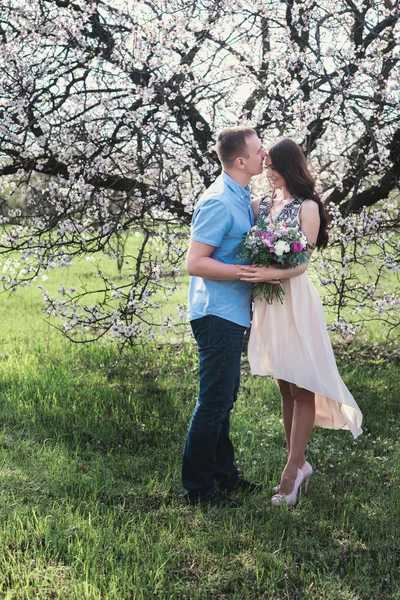
<svg viewBox="0 0 400 600">
<path fill-rule="evenodd" d="M 282 494 L 290 494 L 293 490 L 297 469 L 301 469 L 304 464 L 304 453 L 315 421 L 315 394 L 293 383 L 289 386 L 294 406 L 289 457 L 280 483 Z"/>
</svg>

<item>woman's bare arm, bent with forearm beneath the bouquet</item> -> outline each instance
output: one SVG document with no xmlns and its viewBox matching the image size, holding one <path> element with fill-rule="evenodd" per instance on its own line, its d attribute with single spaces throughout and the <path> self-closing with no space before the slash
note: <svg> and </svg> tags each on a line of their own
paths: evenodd
<svg viewBox="0 0 400 600">
<path fill-rule="evenodd" d="M 306 235 L 308 245 L 313 247 L 317 241 L 320 218 L 318 204 L 313 200 L 305 200 L 299 214 L 300 228 Z M 312 251 L 310 251 L 310 256 Z M 277 269 L 276 267 L 240 267 L 238 271 L 242 281 L 257 283 L 258 281 L 269 281 L 276 279 L 289 279 L 297 277 L 307 270 L 308 262 L 291 269 Z"/>
</svg>

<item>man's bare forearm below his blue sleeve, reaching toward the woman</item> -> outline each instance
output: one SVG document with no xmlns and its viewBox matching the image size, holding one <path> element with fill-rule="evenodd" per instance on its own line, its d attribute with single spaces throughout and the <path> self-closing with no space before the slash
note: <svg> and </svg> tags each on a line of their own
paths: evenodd
<svg viewBox="0 0 400 600">
<path fill-rule="evenodd" d="M 215 281 L 239 279 L 239 265 L 227 265 L 211 258 L 214 250 L 215 246 L 190 240 L 186 257 L 186 271 L 189 275 L 196 275 L 197 277 L 204 277 L 204 279 L 213 279 Z"/>
</svg>

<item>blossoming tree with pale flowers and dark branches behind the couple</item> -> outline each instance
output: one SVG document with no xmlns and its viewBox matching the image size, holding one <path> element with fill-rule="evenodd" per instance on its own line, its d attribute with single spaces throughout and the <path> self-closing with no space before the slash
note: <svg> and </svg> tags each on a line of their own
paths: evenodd
<svg viewBox="0 0 400 600">
<path fill-rule="evenodd" d="M 398 286 L 382 282 L 399 268 L 399 14 L 399 0 L 3 0 L 4 288 L 74 257 L 121 258 L 136 231 L 123 283 L 99 268 L 96 289 L 42 291 L 71 338 L 152 335 L 219 171 L 215 133 L 249 122 L 296 139 L 318 174 L 333 328 L 395 328 Z"/>
</svg>

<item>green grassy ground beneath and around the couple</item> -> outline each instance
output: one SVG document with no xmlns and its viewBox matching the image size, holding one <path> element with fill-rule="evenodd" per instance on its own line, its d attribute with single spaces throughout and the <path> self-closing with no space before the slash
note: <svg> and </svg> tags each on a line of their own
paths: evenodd
<svg viewBox="0 0 400 600">
<path fill-rule="evenodd" d="M 232 437 L 264 490 L 240 508 L 193 509 L 180 483 L 193 344 L 120 358 L 110 343 L 61 339 L 34 289 L 0 305 L 0 598 L 400 599 L 390 348 L 337 347 L 364 434 L 314 430 L 315 475 L 294 510 L 270 504 L 285 461 L 277 389 L 244 359 Z"/>
</svg>

